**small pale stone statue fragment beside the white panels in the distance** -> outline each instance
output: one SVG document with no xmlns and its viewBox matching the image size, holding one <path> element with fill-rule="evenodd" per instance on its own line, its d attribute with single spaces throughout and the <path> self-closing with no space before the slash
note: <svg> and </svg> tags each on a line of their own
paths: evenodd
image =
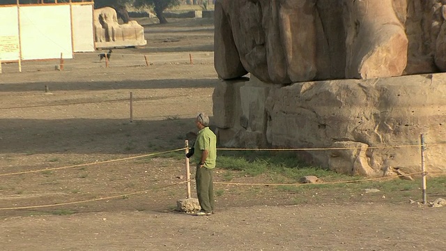
<svg viewBox="0 0 446 251">
<path fill-rule="evenodd" d="M 95 47 L 132 47 L 146 45 L 144 27 L 131 20 L 118 24 L 116 10 L 111 7 L 94 10 Z"/>
</svg>

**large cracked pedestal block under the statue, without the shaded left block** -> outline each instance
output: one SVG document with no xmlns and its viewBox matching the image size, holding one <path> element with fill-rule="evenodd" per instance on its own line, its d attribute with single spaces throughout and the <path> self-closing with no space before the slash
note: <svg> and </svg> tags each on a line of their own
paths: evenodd
<svg viewBox="0 0 446 251">
<path fill-rule="evenodd" d="M 337 170 L 344 166 L 346 169 L 339 171 L 345 173 L 375 176 L 389 166 L 406 174 L 419 172 L 420 134 L 426 135 L 427 142 L 437 143 L 446 133 L 443 82 L 443 74 L 414 75 L 305 82 L 272 89 L 266 104 L 267 139 L 279 147 L 330 148 L 339 144 L 336 142 L 360 143 L 360 151 L 345 153 L 350 157 L 342 161 L 349 165 L 335 165 L 324 151 L 309 152 L 321 165 Z M 362 144 L 378 149 L 364 149 Z M 426 164 L 432 172 L 446 169 L 442 151 L 442 145 L 426 151 Z"/>
</svg>

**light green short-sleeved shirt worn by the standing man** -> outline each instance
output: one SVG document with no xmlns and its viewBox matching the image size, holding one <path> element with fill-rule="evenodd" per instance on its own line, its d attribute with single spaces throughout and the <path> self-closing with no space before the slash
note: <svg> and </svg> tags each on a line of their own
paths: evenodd
<svg viewBox="0 0 446 251">
<path fill-rule="evenodd" d="M 208 169 L 213 169 L 215 167 L 215 160 L 217 159 L 217 136 L 215 136 L 212 130 L 205 127 L 198 132 L 194 149 L 198 159 L 201 158 L 201 153 L 199 153 L 198 150 L 208 150 L 209 155 L 204 162 L 204 167 Z M 198 161 L 200 161 L 200 159 Z"/>
</svg>

